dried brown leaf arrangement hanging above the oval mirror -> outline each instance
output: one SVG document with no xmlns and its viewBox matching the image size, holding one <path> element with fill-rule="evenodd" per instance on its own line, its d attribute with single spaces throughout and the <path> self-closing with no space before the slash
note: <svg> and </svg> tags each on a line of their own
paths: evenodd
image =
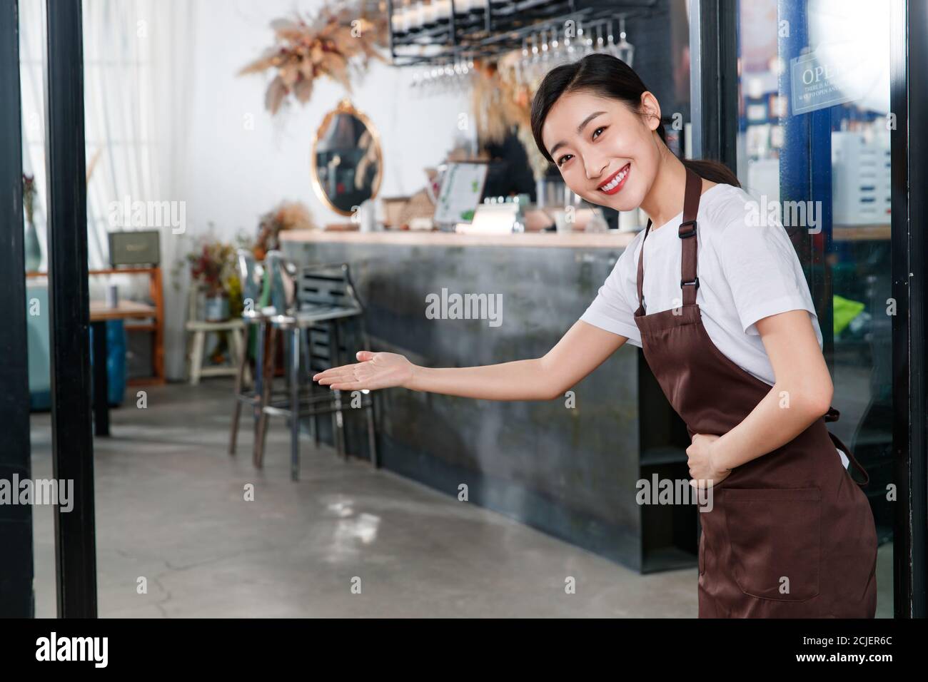
<svg viewBox="0 0 928 682">
<path fill-rule="evenodd" d="M 238 75 L 276 69 L 267 86 L 264 107 L 277 113 L 290 94 L 301 103 L 309 101 L 320 75 L 341 83 L 351 92 L 351 71 L 361 75 L 371 58 L 385 61 L 379 47 L 388 45 L 386 4 L 368 0 L 327 1 L 313 19 L 296 14 L 293 19 L 271 22 L 276 45 L 245 66 Z"/>
</svg>

